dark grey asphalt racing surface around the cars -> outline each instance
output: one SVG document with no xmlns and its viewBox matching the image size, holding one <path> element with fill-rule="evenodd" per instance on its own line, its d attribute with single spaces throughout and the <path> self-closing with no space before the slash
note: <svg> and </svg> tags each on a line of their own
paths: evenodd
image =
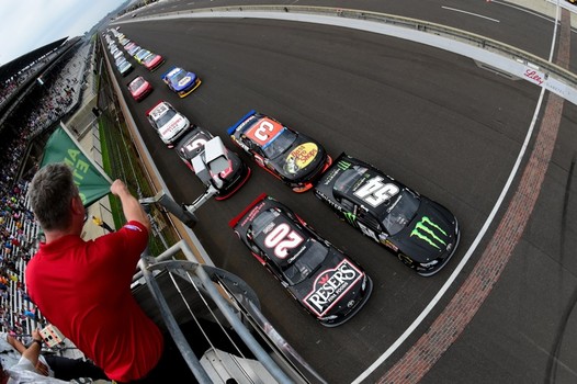
<svg viewBox="0 0 577 384">
<path fill-rule="evenodd" d="M 501 20 L 496 27 L 480 18 L 448 12 L 437 1 L 419 1 L 419 7 L 416 1 L 392 3 L 358 1 L 354 8 L 434 21 L 542 57 L 548 54 L 553 25 L 530 13 L 489 7 L 485 1 L 442 4 Z M 225 4 L 183 1 L 160 2 L 155 8 Z M 344 7 L 337 1 L 315 4 Z M 127 91 L 124 97 L 178 202 L 192 202 L 204 189 L 148 125 L 145 112 L 158 100 L 170 101 L 192 122 L 219 134 L 230 148 L 226 128 L 251 109 L 264 112 L 317 138 L 333 157 L 344 150 L 378 166 L 446 205 L 460 219 L 462 239 L 454 259 L 438 275 L 420 278 L 339 222 L 312 193 L 291 192 L 241 155 L 253 170 L 251 179 L 230 200 L 203 205 L 194 231 L 217 267 L 254 289 L 265 316 L 329 383 L 359 377 L 422 312 L 461 261 L 509 177 L 540 94 L 536 87 L 479 69 L 465 57 L 338 27 L 242 19 L 150 21 L 123 24 L 122 31 L 167 57 L 152 74 L 131 59 L 137 67 L 128 78 L 145 76 L 155 91 L 140 103 L 132 102 Z M 203 84 L 182 100 L 170 93 L 160 75 L 172 65 L 197 72 Z M 128 78 L 120 81 L 127 83 Z M 577 353 L 572 341 L 577 336 L 573 313 L 577 302 L 576 113 L 575 105 L 564 104 L 539 200 L 500 279 L 488 287 L 493 290 L 476 316 L 422 383 L 576 381 Z M 539 122 L 545 117 L 541 113 Z M 367 270 L 373 296 L 349 323 L 331 329 L 316 324 L 227 226 L 262 192 L 293 207 Z M 427 332 L 489 246 L 511 199 L 509 193 L 448 294 L 365 382 L 378 381 Z"/>
</svg>

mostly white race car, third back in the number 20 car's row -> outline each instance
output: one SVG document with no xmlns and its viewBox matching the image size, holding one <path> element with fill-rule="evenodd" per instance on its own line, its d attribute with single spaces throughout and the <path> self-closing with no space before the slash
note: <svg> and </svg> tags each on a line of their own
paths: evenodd
<svg viewBox="0 0 577 384">
<path fill-rule="evenodd" d="M 148 110 L 146 118 L 169 148 L 174 147 L 174 142 L 190 127 L 189 120 L 167 101 L 160 101 Z"/>
</svg>

